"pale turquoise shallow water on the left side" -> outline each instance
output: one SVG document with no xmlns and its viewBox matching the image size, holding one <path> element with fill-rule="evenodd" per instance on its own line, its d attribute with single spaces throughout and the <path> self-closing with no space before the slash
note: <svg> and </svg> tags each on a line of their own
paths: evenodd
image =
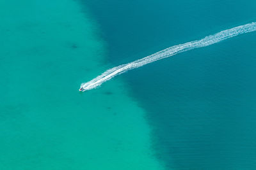
<svg viewBox="0 0 256 170">
<path fill-rule="evenodd" d="M 162 169 L 145 111 L 121 79 L 81 93 L 108 64 L 76 1 L 0 1 L 0 169 Z"/>
</svg>

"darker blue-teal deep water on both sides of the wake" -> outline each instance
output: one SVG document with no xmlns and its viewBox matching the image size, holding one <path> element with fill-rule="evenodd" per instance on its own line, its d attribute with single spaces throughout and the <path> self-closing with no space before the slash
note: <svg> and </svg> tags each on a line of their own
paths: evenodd
<svg viewBox="0 0 256 170">
<path fill-rule="evenodd" d="M 84 1 L 124 64 L 255 21 L 256 1 Z M 173 169 L 256 168 L 256 33 L 123 74 Z"/>
</svg>

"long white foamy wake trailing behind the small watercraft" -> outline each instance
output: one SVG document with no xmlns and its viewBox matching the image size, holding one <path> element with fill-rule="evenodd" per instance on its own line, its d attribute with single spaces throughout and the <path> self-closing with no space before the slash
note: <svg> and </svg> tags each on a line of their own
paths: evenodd
<svg viewBox="0 0 256 170">
<path fill-rule="evenodd" d="M 246 25 L 240 25 L 240 26 L 234 27 L 232 29 L 227 29 L 225 31 L 218 32 L 217 34 L 207 36 L 200 40 L 171 46 L 171 47 L 166 48 L 160 52 L 154 53 L 152 55 L 148 55 L 147 57 L 144 57 L 143 59 L 138 59 L 133 62 L 129 62 L 128 64 L 123 64 L 123 65 L 108 69 L 107 71 L 102 73 L 100 76 L 97 76 L 93 80 L 88 81 L 87 83 L 82 83 L 81 88 L 83 88 L 83 91 L 91 90 L 96 87 L 99 87 L 102 83 L 110 80 L 117 74 L 122 74 L 125 71 L 128 71 L 129 69 L 135 69 L 137 67 L 144 66 L 145 64 L 148 64 L 150 62 L 154 62 L 156 60 L 160 60 L 160 59 L 164 59 L 166 57 L 170 57 L 172 55 L 176 55 L 177 53 L 186 52 L 188 50 L 193 50 L 194 48 L 200 48 L 203 46 L 209 46 L 214 43 L 223 41 L 224 39 L 232 38 L 234 36 L 238 36 L 240 34 L 245 34 L 245 33 L 253 32 L 253 31 L 256 31 L 256 22 L 252 22 L 252 23 L 246 24 Z"/>
</svg>

